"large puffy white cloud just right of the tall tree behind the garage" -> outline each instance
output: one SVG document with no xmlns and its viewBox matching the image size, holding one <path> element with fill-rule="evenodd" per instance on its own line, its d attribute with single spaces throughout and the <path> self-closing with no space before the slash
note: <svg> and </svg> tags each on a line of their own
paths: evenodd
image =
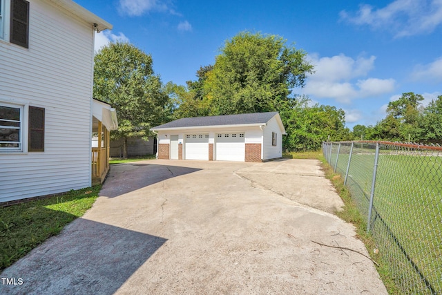
<svg viewBox="0 0 442 295">
<path fill-rule="evenodd" d="M 394 79 L 367 79 L 353 80 L 365 77 L 374 68 L 376 57 L 358 57 L 352 59 L 343 54 L 334 57 L 309 56 L 314 64 L 315 73 L 309 77 L 302 92 L 315 97 L 329 97 L 337 102 L 349 104 L 358 97 L 376 97 L 394 90 Z"/>
</svg>

